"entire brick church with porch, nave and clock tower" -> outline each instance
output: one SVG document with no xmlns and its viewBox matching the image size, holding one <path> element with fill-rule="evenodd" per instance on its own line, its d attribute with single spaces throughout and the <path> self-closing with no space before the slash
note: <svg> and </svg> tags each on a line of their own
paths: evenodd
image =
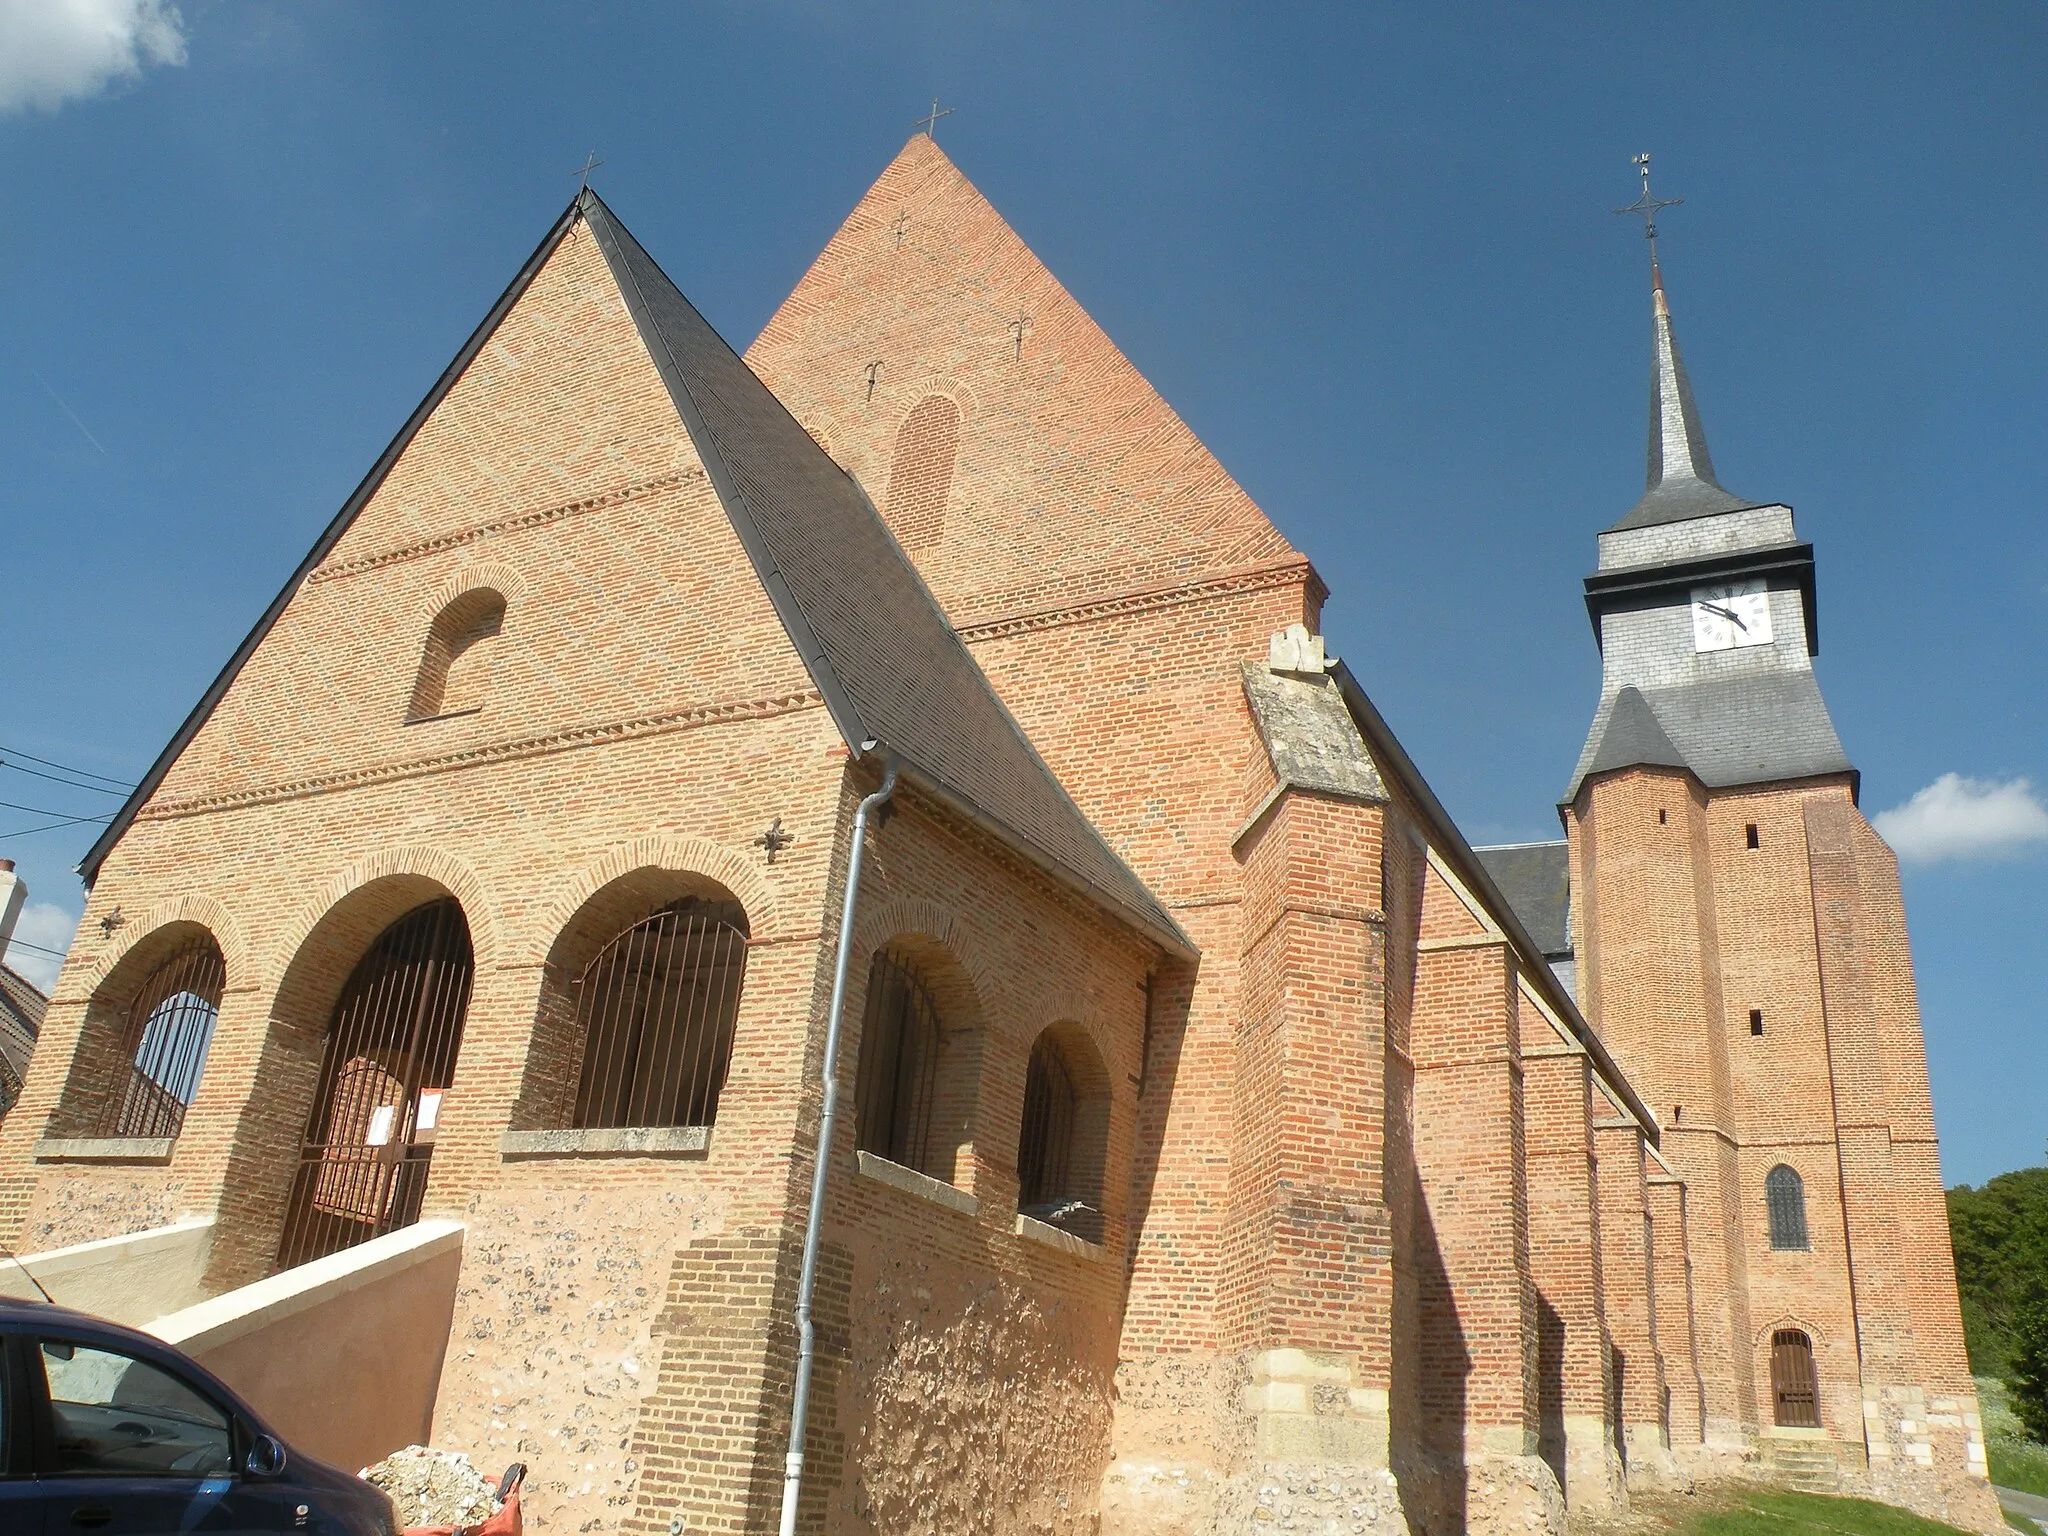
<svg viewBox="0 0 2048 1536">
<path fill-rule="evenodd" d="M 928 133 L 745 356 L 580 193 L 88 854 L 0 1243 L 432 1235 L 537 1532 L 2001 1530 L 1812 549 L 1653 301 L 1565 838 L 1475 850 Z"/>
</svg>

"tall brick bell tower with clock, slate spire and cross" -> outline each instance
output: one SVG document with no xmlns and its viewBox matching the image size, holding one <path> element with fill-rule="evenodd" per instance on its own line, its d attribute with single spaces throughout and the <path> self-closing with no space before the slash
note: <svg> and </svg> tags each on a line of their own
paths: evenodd
<svg viewBox="0 0 2048 1536">
<path fill-rule="evenodd" d="M 1663 1423 L 1630 1436 L 1819 1458 L 1980 1524 L 1896 864 L 1815 678 L 1812 545 L 1708 457 L 1657 260 L 1671 203 L 1638 164 L 1649 473 L 1585 578 L 1602 688 L 1559 807 L 1579 1004 L 1683 1182 L 1694 1348 L 1665 1362 Z"/>
</svg>

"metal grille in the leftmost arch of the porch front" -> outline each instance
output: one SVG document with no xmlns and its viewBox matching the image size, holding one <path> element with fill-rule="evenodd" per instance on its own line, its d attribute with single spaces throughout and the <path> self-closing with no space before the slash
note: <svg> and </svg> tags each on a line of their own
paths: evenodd
<svg viewBox="0 0 2048 1536">
<path fill-rule="evenodd" d="M 221 1016 L 227 967 L 219 944 L 180 944 L 143 979 L 121 1036 L 121 1081 L 113 1085 L 92 1135 L 176 1137 L 199 1094 L 213 1024 Z"/>
</svg>

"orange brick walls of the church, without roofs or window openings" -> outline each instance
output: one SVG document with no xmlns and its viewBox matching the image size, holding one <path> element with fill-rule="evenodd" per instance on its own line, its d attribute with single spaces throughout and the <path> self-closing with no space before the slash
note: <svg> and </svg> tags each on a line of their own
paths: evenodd
<svg viewBox="0 0 2048 1536">
<path fill-rule="evenodd" d="M 1161 954 L 909 788 L 870 834 L 842 1081 L 889 946 L 942 1018 L 934 1139 L 920 1169 L 856 1155 L 848 1096 L 823 1149 L 803 1530 L 1561 1534 L 1567 1499 L 1618 1509 L 1706 1468 L 1706 1442 L 1747 1446 L 1767 1319 L 1808 1292 L 1825 1413 L 1845 1446 L 1868 1434 L 1868 1485 L 1982 1524 L 1946 1473 L 1970 1448 L 1980 1466 L 1980 1425 L 1929 1225 L 1896 877 L 1853 809 L 1827 821 L 1806 788 L 1731 811 L 1655 774 L 1587 788 L 1583 1006 L 1659 1116 L 1688 1106 L 1659 1161 L 1540 1001 L 1542 956 L 1434 842 L 1425 791 L 1386 762 L 1276 774 L 1243 668 L 1317 629 L 1317 573 L 930 139 L 748 360 L 1198 948 Z M 463 662 L 481 707 L 410 721 L 436 616 L 481 592 L 504 598 Z M 109 856 L 0 1122 L 0 1241 L 207 1214 L 209 1286 L 266 1274 L 336 997 L 391 920 L 453 895 L 475 985 L 426 1186 L 426 1214 L 467 1227 L 436 1440 L 528 1460 L 537 1536 L 770 1528 L 872 784 L 571 229 Z M 1642 825 L 1653 805 L 1669 831 Z M 1812 842 L 1821 895 L 1804 864 L 1724 877 L 1743 815 L 1772 850 Z M 793 842 L 770 858 L 776 819 Z M 575 979 L 684 895 L 748 915 L 717 1124 L 580 1137 Z M 1804 938 L 1751 944 L 1780 903 Z M 39 1163 L 125 1067 L 154 958 L 199 932 L 227 989 L 168 1161 Z M 1853 1051 L 1882 1114 L 1722 1137 L 1782 1096 L 1696 1049 L 1698 1022 L 1767 987 L 1796 1055 L 1769 1071 L 1827 1102 L 1827 1051 Z M 1047 1028 L 1085 1067 L 1100 1243 L 1016 1208 Z M 1761 1247 L 1763 1155 L 1810 1169 L 1810 1255 Z M 1810 1284 L 1866 1231 L 1898 1235 L 1884 1284 L 1911 1313 L 1882 1380 L 1855 1376 L 1845 1292 Z"/>
</svg>

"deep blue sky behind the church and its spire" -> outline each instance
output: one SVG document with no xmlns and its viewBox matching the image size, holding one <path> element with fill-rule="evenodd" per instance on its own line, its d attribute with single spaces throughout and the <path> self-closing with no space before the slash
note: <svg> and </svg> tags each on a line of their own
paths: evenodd
<svg viewBox="0 0 2048 1536">
<path fill-rule="evenodd" d="M 1888 825 L 1946 1171 L 2042 1161 L 2040 6 L 84 4 L 98 43 L 0 39 L 0 745 L 147 766 L 588 150 L 745 344 L 936 92 L 1317 561 L 1466 834 L 1556 836 L 1579 578 L 1640 492 L 1610 209 L 1651 150 L 1720 477 L 1817 543 L 1866 809 L 1927 793 Z M 111 809 L 12 770 L 0 801 Z M 90 829 L 10 836 L 39 819 L 0 811 L 0 854 L 61 946 Z"/>
</svg>

